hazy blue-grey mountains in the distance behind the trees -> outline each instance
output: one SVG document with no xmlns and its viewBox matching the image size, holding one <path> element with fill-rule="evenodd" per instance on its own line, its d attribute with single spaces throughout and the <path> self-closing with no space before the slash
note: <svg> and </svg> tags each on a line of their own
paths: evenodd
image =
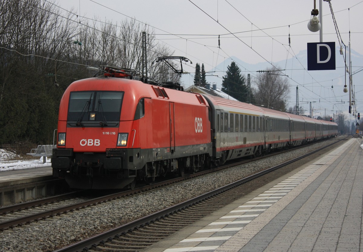
<svg viewBox="0 0 363 252">
<path fill-rule="evenodd" d="M 288 101 L 288 107 L 294 106 L 296 103 L 296 87 L 298 86 L 299 92 L 299 105 L 303 104 L 307 109 L 307 103 L 317 102 L 314 104 L 315 107 L 320 110 L 325 109 L 326 111 L 343 111 L 348 110 L 349 93 L 343 92 L 343 87 L 346 84 L 348 87 L 349 77 L 346 73 L 346 67 L 344 67 L 344 57 L 347 58 L 347 66 L 349 60 L 348 48 L 343 49 L 343 55 L 339 52 L 339 47 L 335 49 L 335 70 L 319 70 L 319 71 L 307 71 L 307 50 L 300 51 L 296 56 L 288 58 L 284 61 L 273 62 L 274 66 L 281 69 L 279 74 L 285 74 L 289 78 L 290 99 Z M 254 78 L 258 76 L 258 70 L 266 70 L 271 68 L 272 65 L 269 62 L 260 62 L 258 64 L 249 64 L 239 58 L 232 57 L 232 59 L 226 59 L 216 66 L 216 72 L 213 73 L 218 75 L 207 76 L 207 82 L 216 83 L 218 88 L 222 87 L 222 77 L 227 71 L 227 66 L 231 62 L 235 61 L 238 67 L 241 69 L 241 73 L 245 75 L 247 81 L 247 74 L 251 77 L 251 86 L 253 87 Z M 351 50 L 351 62 L 352 62 L 352 80 L 356 94 L 356 109 L 363 110 L 362 102 L 359 103 L 359 93 L 363 91 L 363 56 L 358 52 Z M 285 70 L 286 69 L 286 70 Z M 214 71 L 215 69 L 210 69 Z M 220 72 L 219 72 L 220 71 Z M 223 72 L 221 72 L 223 71 Z M 332 88 L 333 86 L 333 88 Z M 318 104 L 321 103 L 321 104 Z M 310 109 L 310 108 L 309 108 Z"/>
</svg>

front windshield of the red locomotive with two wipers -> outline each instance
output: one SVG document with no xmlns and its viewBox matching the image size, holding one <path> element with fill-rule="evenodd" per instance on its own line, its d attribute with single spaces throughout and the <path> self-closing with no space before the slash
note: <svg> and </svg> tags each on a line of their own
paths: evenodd
<svg viewBox="0 0 363 252">
<path fill-rule="evenodd" d="M 100 123 L 120 121 L 123 92 L 85 91 L 71 92 L 68 122 Z"/>
</svg>

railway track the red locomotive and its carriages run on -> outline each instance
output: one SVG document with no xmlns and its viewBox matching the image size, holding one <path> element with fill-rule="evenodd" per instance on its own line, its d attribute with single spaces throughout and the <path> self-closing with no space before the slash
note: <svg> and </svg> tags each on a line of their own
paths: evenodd
<svg viewBox="0 0 363 252">
<path fill-rule="evenodd" d="M 303 146 L 303 147 L 306 147 Z M 256 161 L 258 159 L 271 157 L 273 155 L 285 153 L 287 151 L 299 149 L 301 146 L 280 151 L 278 153 L 272 153 L 269 155 L 265 155 L 263 157 L 257 157 L 248 160 L 242 160 L 240 162 L 234 162 L 230 164 L 226 164 L 224 166 L 220 166 L 217 168 L 213 168 L 210 170 L 204 170 L 200 172 L 196 172 L 194 174 L 185 175 L 183 177 L 172 178 L 169 180 L 164 180 L 162 182 L 153 183 L 151 185 L 142 186 L 140 188 L 136 188 L 134 190 L 116 192 L 114 194 L 108 194 L 105 196 L 99 196 L 97 198 L 93 198 L 90 196 L 85 196 L 85 191 L 77 191 L 71 192 L 68 194 L 53 196 L 50 198 L 34 200 L 31 202 L 25 202 L 21 204 L 16 204 L 12 206 L 7 206 L 0 208 L 0 231 L 4 231 L 5 229 L 21 227 L 23 225 L 30 224 L 34 221 L 46 220 L 48 218 L 53 218 L 54 216 L 60 216 L 62 214 L 66 214 L 68 212 L 73 212 L 80 210 L 82 208 L 87 208 L 91 206 L 96 206 L 97 204 L 105 203 L 110 200 L 120 199 L 123 197 L 130 196 L 135 193 L 139 193 L 141 191 L 151 190 L 153 188 L 158 188 L 160 186 L 164 186 L 166 184 L 176 183 L 181 180 L 194 178 L 197 176 L 205 175 L 211 172 L 216 172 L 219 170 L 223 170 L 228 167 L 241 165 L 244 163 Z"/>
</svg>

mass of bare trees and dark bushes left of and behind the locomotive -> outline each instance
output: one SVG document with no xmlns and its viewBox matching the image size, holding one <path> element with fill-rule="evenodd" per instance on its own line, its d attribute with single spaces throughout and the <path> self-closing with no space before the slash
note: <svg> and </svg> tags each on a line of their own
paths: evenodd
<svg viewBox="0 0 363 252">
<path fill-rule="evenodd" d="M 97 17 L 79 23 L 72 10 L 65 14 L 54 2 L 0 1 L 0 144 L 21 139 L 50 143 L 67 86 L 91 76 L 86 65 L 140 70 L 142 32 L 148 34 L 150 79 L 179 79 L 166 65 L 151 64 L 173 52 L 155 39 L 150 27 L 135 20 L 100 22 Z"/>
</svg>

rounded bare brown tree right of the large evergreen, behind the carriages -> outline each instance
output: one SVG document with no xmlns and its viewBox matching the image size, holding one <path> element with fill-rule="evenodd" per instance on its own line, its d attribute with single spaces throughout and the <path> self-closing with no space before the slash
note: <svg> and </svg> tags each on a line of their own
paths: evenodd
<svg viewBox="0 0 363 252">
<path fill-rule="evenodd" d="M 289 83 L 286 77 L 274 69 L 266 69 L 254 81 L 254 98 L 257 105 L 286 111 L 285 100 L 289 97 Z"/>
</svg>

